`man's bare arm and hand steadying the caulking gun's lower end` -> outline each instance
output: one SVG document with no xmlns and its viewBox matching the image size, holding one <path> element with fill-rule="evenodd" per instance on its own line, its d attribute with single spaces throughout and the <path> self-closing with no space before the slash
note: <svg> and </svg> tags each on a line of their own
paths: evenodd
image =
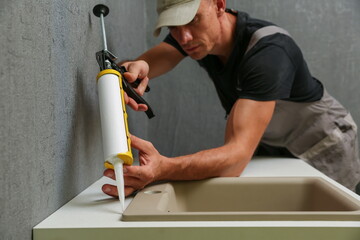
<svg viewBox="0 0 360 240">
<path fill-rule="evenodd" d="M 126 195 L 160 180 L 239 176 L 251 160 L 274 108 L 275 101 L 237 100 L 227 120 L 224 145 L 186 156 L 167 158 L 150 142 L 132 136 L 140 166 L 124 167 Z M 104 175 L 114 178 L 112 170 L 106 170 Z M 103 190 L 117 195 L 115 186 L 105 185 Z"/>
</svg>

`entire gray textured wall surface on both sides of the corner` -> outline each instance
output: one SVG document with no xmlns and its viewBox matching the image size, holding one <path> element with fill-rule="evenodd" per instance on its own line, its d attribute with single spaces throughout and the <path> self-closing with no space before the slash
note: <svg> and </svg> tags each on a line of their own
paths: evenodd
<svg viewBox="0 0 360 240">
<path fill-rule="evenodd" d="M 104 1 L 109 49 L 134 58 L 152 37 L 155 2 Z M 0 239 L 31 229 L 102 175 L 95 0 L 2 1 L 0 9 Z M 288 29 L 314 76 L 360 123 L 359 0 L 229 0 L 228 6 Z M 225 112 L 192 60 L 154 79 L 156 118 L 129 110 L 130 130 L 167 156 L 223 143 Z"/>
</svg>

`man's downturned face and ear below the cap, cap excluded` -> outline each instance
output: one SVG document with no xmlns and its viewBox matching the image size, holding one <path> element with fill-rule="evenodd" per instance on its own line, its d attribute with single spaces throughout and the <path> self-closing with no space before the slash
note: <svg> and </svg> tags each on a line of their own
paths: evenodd
<svg viewBox="0 0 360 240">
<path fill-rule="evenodd" d="M 200 3 L 199 10 L 190 23 L 169 27 L 171 35 L 195 60 L 212 53 L 221 34 L 220 29 L 216 5 L 207 0 Z"/>
</svg>

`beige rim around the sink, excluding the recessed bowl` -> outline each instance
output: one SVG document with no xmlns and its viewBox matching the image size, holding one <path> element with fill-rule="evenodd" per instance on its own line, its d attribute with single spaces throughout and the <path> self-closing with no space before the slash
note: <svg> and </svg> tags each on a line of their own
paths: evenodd
<svg viewBox="0 0 360 240">
<path fill-rule="evenodd" d="M 165 194 L 164 189 L 169 185 L 177 184 L 216 184 L 216 183 L 319 183 L 325 184 L 331 191 L 340 194 L 344 201 L 355 204 L 355 210 L 347 211 L 167 211 L 159 210 L 158 206 L 138 206 L 140 198 L 147 197 L 161 199 Z M 160 190 L 159 190 L 160 188 Z M 329 190 L 329 191 L 330 191 Z M 164 191 L 164 192 L 161 192 Z M 152 194 L 149 194 L 152 193 Z M 139 200 L 140 199 L 140 200 Z M 161 204 L 159 204 L 161 205 Z M 360 221 L 360 201 L 337 188 L 321 177 L 235 177 L 212 178 L 199 181 L 165 182 L 152 185 L 141 190 L 134 197 L 128 208 L 122 214 L 123 221 Z"/>
</svg>

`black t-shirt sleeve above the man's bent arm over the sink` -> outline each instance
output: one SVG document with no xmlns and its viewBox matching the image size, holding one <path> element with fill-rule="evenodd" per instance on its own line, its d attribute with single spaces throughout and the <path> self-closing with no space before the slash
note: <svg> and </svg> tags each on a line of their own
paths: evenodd
<svg viewBox="0 0 360 240">
<path fill-rule="evenodd" d="M 258 101 L 286 99 L 291 94 L 295 66 L 284 49 L 268 45 L 248 56 L 239 76 L 238 98 Z"/>
</svg>

